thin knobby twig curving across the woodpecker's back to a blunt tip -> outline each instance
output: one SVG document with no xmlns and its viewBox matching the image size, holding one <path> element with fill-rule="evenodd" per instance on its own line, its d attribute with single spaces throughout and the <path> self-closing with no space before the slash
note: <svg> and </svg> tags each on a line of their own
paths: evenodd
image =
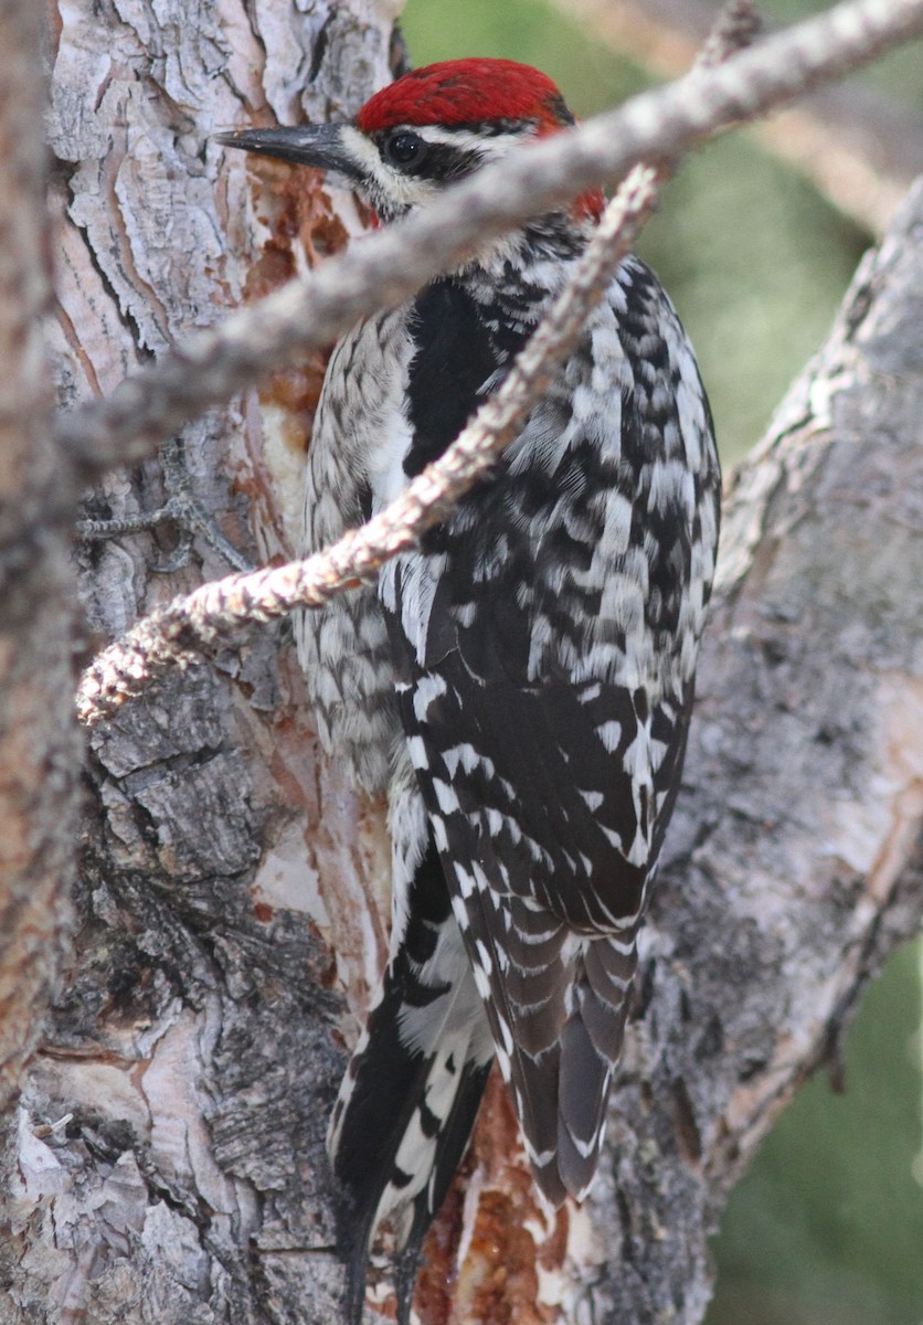
<svg viewBox="0 0 923 1325">
<path fill-rule="evenodd" d="M 712 70 L 720 73 L 719 62 L 748 41 L 752 32 L 751 8 L 731 7 L 730 17 L 719 24 L 704 52 L 702 66 L 686 83 L 701 90 Z M 707 73 L 703 72 L 706 66 Z M 673 90 L 682 89 L 681 83 Z M 290 566 L 205 584 L 139 623 L 83 674 L 77 697 L 81 721 L 86 725 L 101 721 L 164 670 L 187 666 L 219 643 L 228 643 L 241 625 L 265 623 L 297 608 L 320 607 L 335 594 L 373 579 L 385 560 L 416 546 L 422 533 L 445 518 L 514 439 L 544 391 L 548 376 L 576 343 L 588 310 L 634 242 L 653 207 L 657 183 L 665 175 L 665 166 L 659 172 L 649 167 L 632 172 L 609 204 L 547 322 L 501 390 L 445 456 L 414 480 L 396 502 L 326 553 Z"/>
</svg>

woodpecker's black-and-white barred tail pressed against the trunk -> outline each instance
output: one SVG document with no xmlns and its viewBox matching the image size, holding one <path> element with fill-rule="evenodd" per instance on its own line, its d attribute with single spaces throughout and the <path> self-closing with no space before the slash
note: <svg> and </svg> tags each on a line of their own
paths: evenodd
<svg viewBox="0 0 923 1325">
<path fill-rule="evenodd" d="M 399 1322 L 409 1320 L 420 1246 L 461 1162 L 493 1057 L 430 844 L 396 917 L 391 958 L 327 1137 L 343 1192 L 339 1243 L 352 1325 L 362 1318 L 369 1244 L 385 1219 L 401 1249 Z"/>
</svg>

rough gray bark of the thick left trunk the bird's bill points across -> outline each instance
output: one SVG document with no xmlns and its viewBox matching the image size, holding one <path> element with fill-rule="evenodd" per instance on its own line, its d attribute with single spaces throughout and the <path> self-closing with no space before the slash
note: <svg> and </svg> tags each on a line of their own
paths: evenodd
<svg viewBox="0 0 923 1325">
<path fill-rule="evenodd" d="M 389 34 L 384 4 L 60 5 L 50 339 L 65 403 L 289 278 L 295 237 L 343 242 L 348 199 L 335 212 L 271 167 L 252 187 L 242 158 L 217 172 L 207 134 L 355 110 L 389 77 Z M 183 435 L 197 496 L 253 560 L 287 549 L 277 494 L 320 374 L 307 362 Z M 163 498 L 151 462 L 114 473 L 86 514 Z M 85 659 L 226 571 L 196 539 L 188 566 L 158 574 L 177 541 L 166 525 L 77 546 Z M 335 1318 L 339 1265 L 314 1253 L 331 1242 L 323 1134 L 344 1063 L 328 935 L 342 908 L 359 987 L 381 930 L 356 917 L 384 889 L 385 852 L 375 814 L 318 767 L 301 678 L 278 655 L 278 632 L 256 636 L 90 741 L 74 959 L 7 1118 L 4 1325 Z M 70 676 L 57 686 L 70 714 Z"/>
</svg>

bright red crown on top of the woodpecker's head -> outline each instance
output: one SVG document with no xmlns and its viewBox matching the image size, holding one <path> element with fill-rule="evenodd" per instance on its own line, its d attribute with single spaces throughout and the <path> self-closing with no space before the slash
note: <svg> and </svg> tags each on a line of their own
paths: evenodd
<svg viewBox="0 0 923 1325">
<path fill-rule="evenodd" d="M 546 132 L 573 123 L 555 83 L 515 60 L 444 60 L 404 74 L 356 117 L 364 134 L 397 125 L 479 125 L 532 119 Z"/>
</svg>

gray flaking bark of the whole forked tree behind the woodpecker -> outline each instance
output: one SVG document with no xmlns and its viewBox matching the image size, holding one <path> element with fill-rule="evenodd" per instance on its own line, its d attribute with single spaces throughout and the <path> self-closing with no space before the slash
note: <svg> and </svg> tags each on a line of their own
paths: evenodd
<svg viewBox="0 0 923 1325">
<path fill-rule="evenodd" d="M 360 228 L 348 197 L 207 142 L 237 122 L 351 111 L 387 80 L 393 7 L 305 8 L 52 7 L 49 341 L 65 404 Z M 425 1325 L 699 1321 L 727 1191 L 919 930 L 922 347 L 918 186 L 728 496 L 685 787 L 593 1194 L 554 1218 L 538 1208 L 491 1081 L 428 1243 Z M 253 560 L 287 551 L 320 375 L 309 362 L 181 437 L 197 500 Z M 114 473 L 89 515 L 163 506 L 175 458 Z M 200 533 L 185 553 L 170 521 L 78 543 L 78 653 L 228 568 Z M 61 583 L 34 602 L 52 603 L 66 640 Z M 49 674 L 41 702 L 66 745 L 69 692 Z M 45 774 L 58 890 L 73 766 Z M 40 1023 L 17 1056 L 3 1048 L 20 1093 L 0 1133 L 0 1325 L 335 1322 L 323 1137 L 384 951 L 388 848 L 381 807 L 318 757 L 285 629 L 252 632 L 93 731 L 79 841 L 52 1015 L 24 1071 Z M 64 921 L 44 901 L 41 917 L 48 987 Z"/>
</svg>

